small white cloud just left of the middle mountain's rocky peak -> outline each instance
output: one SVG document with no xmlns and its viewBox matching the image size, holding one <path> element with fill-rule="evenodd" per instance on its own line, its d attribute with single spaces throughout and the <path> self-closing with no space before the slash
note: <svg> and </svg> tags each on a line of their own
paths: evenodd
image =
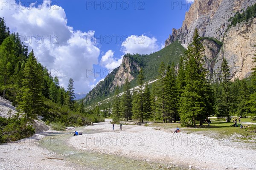
<svg viewBox="0 0 256 170">
<path fill-rule="evenodd" d="M 100 60 L 100 65 L 109 69 L 109 70 L 113 70 L 114 68 L 119 67 L 119 65 L 122 63 L 122 58 L 123 56 L 121 56 L 121 58 L 119 59 L 115 59 L 114 58 L 114 51 L 112 50 L 108 50 L 105 55 L 102 56 L 101 60 Z"/>
</svg>

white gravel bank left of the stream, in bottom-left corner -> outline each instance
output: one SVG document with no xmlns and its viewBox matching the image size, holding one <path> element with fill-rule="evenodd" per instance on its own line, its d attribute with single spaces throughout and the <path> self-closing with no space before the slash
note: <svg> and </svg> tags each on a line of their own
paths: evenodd
<svg viewBox="0 0 256 170">
<path fill-rule="evenodd" d="M 50 132 L 50 131 L 49 131 Z M 47 135 L 36 134 L 32 138 L 0 145 L 0 170 L 77 170 L 70 162 L 50 158 L 63 158 L 40 147 L 40 139 Z"/>
</svg>

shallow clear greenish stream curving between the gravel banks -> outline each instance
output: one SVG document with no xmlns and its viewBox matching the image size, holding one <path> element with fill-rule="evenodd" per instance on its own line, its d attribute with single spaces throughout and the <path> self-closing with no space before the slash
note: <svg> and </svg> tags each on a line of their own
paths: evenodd
<svg viewBox="0 0 256 170">
<path fill-rule="evenodd" d="M 76 130 L 82 131 L 84 127 Z M 87 130 L 86 133 L 99 133 Z M 159 167 L 159 163 L 129 159 L 127 157 L 95 153 L 84 150 L 77 150 L 69 147 L 67 140 L 72 137 L 70 133 L 50 133 L 41 144 L 42 147 L 52 152 L 63 155 L 64 160 L 74 162 L 79 167 L 104 170 L 156 170 L 166 168 L 168 165 Z M 181 167 L 172 167 L 171 170 L 182 170 Z"/>
</svg>

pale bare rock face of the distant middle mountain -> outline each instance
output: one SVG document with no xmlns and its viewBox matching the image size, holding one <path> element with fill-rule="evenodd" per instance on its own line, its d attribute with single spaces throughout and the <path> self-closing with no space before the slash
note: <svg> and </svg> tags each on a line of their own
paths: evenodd
<svg viewBox="0 0 256 170">
<path fill-rule="evenodd" d="M 134 71 L 140 71 L 139 65 L 137 63 L 132 62 L 129 57 L 124 57 L 122 59 L 122 64 L 120 65 L 118 71 L 116 72 L 116 76 L 113 80 L 113 87 L 121 86 L 125 84 L 125 80 L 128 77 L 128 82 L 134 79 L 132 73 Z"/>
</svg>

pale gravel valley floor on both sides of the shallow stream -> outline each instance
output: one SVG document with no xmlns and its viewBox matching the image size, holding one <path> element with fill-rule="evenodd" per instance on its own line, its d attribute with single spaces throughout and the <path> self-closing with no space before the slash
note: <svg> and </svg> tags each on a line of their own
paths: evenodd
<svg viewBox="0 0 256 170">
<path fill-rule="evenodd" d="M 204 170 L 255 170 L 255 143 L 232 142 L 232 139 L 213 139 L 205 134 L 173 133 L 173 129 L 138 125 L 116 125 L 114 131 L 109 120 L 93 126 L 79 127 L 83 135 L 66 133 L 64 147 L 74 147 L 81 152 L 93 151 L 103 156 L 118 155 L 131 159 L 157 162 L 159 169 L 204 169 Z M 182 128 L 181 128 L 182 130 Z M 73 130 L 72 130 L 73 131 Z M 92 133 L 93 131 L 93 133 Z M 55 131 L 54 131 L 55 132 Z M 207 133 L 207 132 L 206 132 Z M 0 145 L 0 170 L 79 170 L 91 169 L 66 159 L 41 146 L 40 139 L 56 133 L 47 131 L 32 138 Z M 110 154 L 110 155 L 109 155 Z M 64 160 L 47 159 L 64 158 Z M 85 158 L 86 159 L 86 158 Z M 77 157 L 77 160 L 80 160 Z M 111 159 L 108 159 L 111 161 Z M 99 161 L 101 163 L 101 161 Z M 157 165 L 158 166 L 158 165 Z M 115 169 L 115 167 L 111 167 Z"/>
</svg>

